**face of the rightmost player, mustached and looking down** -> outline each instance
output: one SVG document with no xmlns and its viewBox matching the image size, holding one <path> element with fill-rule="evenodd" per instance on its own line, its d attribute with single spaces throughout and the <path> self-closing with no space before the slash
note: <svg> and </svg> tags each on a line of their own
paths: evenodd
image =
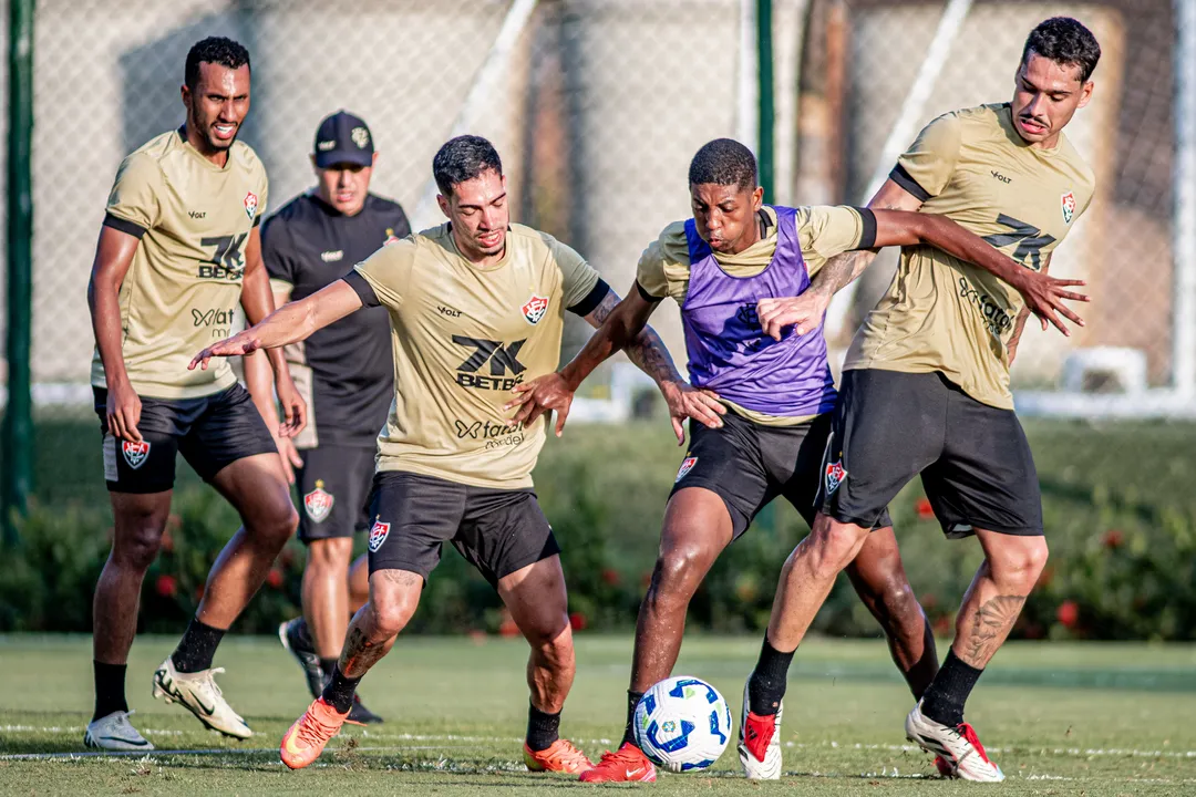
<svg viewBox="0 0 1196 797">
<path fill-rule="evenodd" d="M 1014 78 L 1013 124 L 1026 143 L 1049 149 L 1091 97 L 1092 81 L 1080 82 L 1078 65 L 1060 65 L 1031 51 Z"/>
</svg>

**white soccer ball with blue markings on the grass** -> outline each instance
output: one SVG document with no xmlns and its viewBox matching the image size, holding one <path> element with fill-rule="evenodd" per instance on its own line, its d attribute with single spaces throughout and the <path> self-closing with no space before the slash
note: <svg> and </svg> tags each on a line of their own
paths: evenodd
<svg viewBox="0 0 1196 797">
<path fill-rule="evenodd" d="M 731 709 L 719 691 L 697 678 L 670 678 L 635 706 L 635 743 L 670 772 L 713 766 L 731 740 Z"/>
</svg>

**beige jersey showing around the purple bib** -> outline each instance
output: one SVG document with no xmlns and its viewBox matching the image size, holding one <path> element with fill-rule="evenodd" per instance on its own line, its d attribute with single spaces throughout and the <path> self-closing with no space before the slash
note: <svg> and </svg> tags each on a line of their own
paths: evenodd
<svg viewBox="0 0 1196 797">
<path fill-rule="evenodd" d="M 773 262 L 777 238 L 776 211 L 765 206 L 764 213 L 770 220 L 764 238 L 738 255 L 712 252 L 719 266 L 732 277 L 753 277 Z M 801 241 L 801 258 L 811 278 L 830 258 L 858 249 L 864 235 L 864 221 L 855 208 L 826 206 L 797 208 L 794 221 Z M 685 304 L 685 293 L 689 289 L 689 268 L 685 222 L 677 221 L 665 227 L 660 238 L 643 250 L 635 280 L 643 293 L 657 299 L 671 296 L 681 307 Z M 756 412 L 725 399 L 724 401 L 749 421 L 769 427 L 797 425 L 812 417 L 779 417 Z"/>
</svg>

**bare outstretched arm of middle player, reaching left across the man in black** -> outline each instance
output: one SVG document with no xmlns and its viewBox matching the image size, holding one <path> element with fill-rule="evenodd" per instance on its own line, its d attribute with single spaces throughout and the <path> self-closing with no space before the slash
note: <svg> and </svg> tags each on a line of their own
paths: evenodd
<svg viewBox="0 0 1196 797">
<path fill-rule="evenodd" d="M 207 368 L 212 357 L 239 357 L 258 349 L 297 343 L 358 309 L 361 309 L 358 292 L 344 280 L 337 280 L 306 299 L 280 307 L 244 332 L 213 343 L 195 355 L 188 368 Z"/>
</svg>

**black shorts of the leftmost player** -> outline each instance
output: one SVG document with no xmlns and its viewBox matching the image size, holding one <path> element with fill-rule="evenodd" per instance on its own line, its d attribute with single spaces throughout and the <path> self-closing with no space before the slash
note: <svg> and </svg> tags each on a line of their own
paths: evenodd
<svg viewBox="0 0 1196 797">
<path fill-rule="evenodd" d="M 240 385 L 193 399 L 141 398 L 141 442 L 108 434 L 108 391 L 92 387 L 104 436 L 104 480 L 111 492 L 163 492 L 175 486 L 175 453 L 210 482 L 225 466 L 277 447 Z"/>
</svg>

